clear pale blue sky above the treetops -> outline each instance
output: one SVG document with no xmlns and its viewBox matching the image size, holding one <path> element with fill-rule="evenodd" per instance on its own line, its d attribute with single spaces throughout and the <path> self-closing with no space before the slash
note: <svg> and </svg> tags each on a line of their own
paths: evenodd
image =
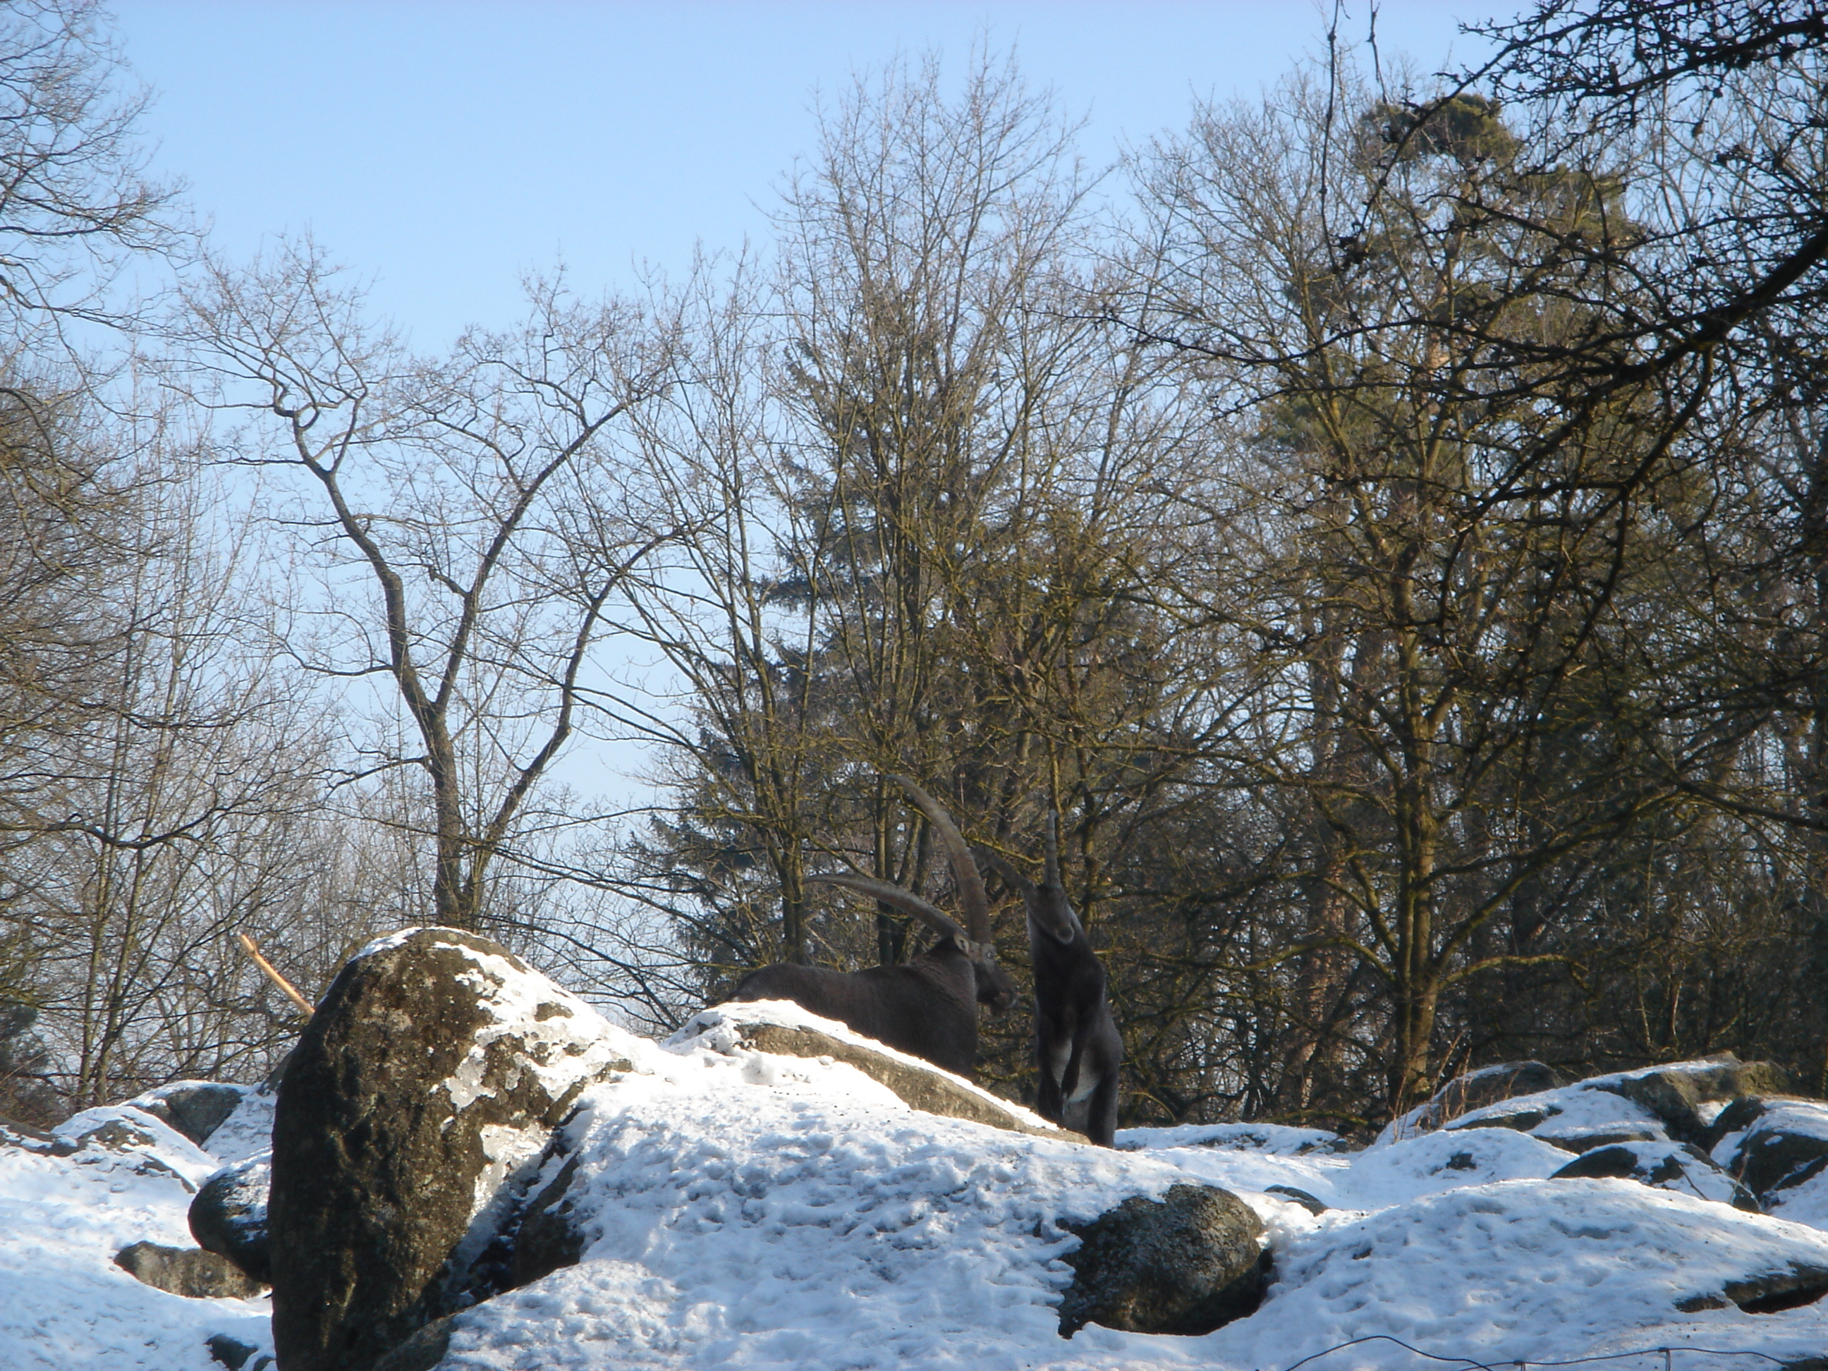
<svg viewBox="0 0 1828 1371">
<path fill-rule="evenodd" d="M 1508 5 L 1506 5 L 1508 9 Z M 1013 44 L 1029 79 L 1088 113 L 1086 152 L 1186 122 L 1196 93 L 1254 93 L 1322 42 L 1331 4 L 216 4 L 117 0 L 157 91 L 155 166 L 190 183 L 218 247 L 311 230 L 375 278 L 420 347 L 506 325 L 519 278 L 563 258 L 585 292 L 634 263 L 678 271 L 695 241 L 766 236 L 812 104 L 898 51 L 962 64 Z M 1424 69 L 1466 0 L 1386 0 L 1380 49 Z M 1362 38 L 1366 0 L 1344 5 Z"/>
</svg>

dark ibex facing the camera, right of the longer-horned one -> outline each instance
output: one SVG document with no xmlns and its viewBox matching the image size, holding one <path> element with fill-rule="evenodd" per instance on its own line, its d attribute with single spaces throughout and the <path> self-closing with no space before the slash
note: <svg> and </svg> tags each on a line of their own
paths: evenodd
<svg viewBox="0 0 1828 1371">
<path fill-rule="evenodd" d="M 1117 1068 L 1124 1040 L 1104 998 L 1104 963 L 1060 883 L 1060 839 L 1047 815 L 1047 850 L 1040 885 L 978 848 L 1027 905 L 1029 956 L 1035 962 L 1035 1068 L 1040 1084 L 1035 1111 L 1062 1128 L 1111 1146 L 1117 1133 Z"/>
</svg>

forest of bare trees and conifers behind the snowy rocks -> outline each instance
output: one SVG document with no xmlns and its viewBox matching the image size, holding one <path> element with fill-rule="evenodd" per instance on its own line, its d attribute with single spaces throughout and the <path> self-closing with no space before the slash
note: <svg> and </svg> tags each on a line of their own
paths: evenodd
<svg viewBox="0 0 1828 1371">
<path fill-rule="evenodd" d="M 638 1031 L 903 962 L 813 881 L 952 907 L 894 773 L 1016 866 L 1057 819 L 1126 1124 L 1828 1093 L 1828 4 L 1468 33 L 1102 170 L 1011 53 L 894 60 L 771 239 L 426 356 L 214 252 L 102 9 L 7 4 L 0 1113 L 260 1079 L 243 934 L 316 996 L 481 930 Z"/>
</svg>

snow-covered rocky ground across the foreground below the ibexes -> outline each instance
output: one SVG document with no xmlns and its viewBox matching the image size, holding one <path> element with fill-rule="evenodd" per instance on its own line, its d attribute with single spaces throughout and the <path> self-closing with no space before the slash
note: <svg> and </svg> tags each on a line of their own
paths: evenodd
<svg viewBox="0 0 1828 1371">
<path fill-rule="evenodd" d="M 444 1367 L 1356 1371 L 1605 1356 L 1662 1371 L 1667 1347 L 1669 1371 L 1770 1371 L 1828 1353 L 1828 1300 L 1751 1314 L 1722 1298 L 1759 1276 L 1828 1270 L 1815 1183 L 1759 1216 L 1627 1179 L 1554 1181 L 1572 1153 L 1510 1128 L 1364 1152 L 1314 1130 L 1132 1130 L 1108 1152 L 916 1113 L 856 1068 L 749 1051 L 715 1016 L 698 1029 L 667 1044 L 620 1035 L 634 1069 L 589 1089 L 567 1126 L 583 1261 L 461 1314 Z M 1616 1095 L 1550 1093 L 1561 1126 L 1654 1128 Z M 188 1247 L 190 1188 L 256 1152 L 269 1110 L 249 1097 L 207 1150 L 119 1106 L 73 1119 L 62 1148 L 0 1142 L 0 1371 L 208 1371 L 212 1334 L 271 1351 L 265 1302 L 163 1294 L 112 1263 L 132 1241 Z M 1802 1113 L 1799 1126 L 1828 1117 Z M 110 1121 L 143 1141 L 115 1133 L 112 1150 L 93 1132 Z M 1197 1338 L 1093 1325 L 1062 1340 L 1060 1258 L 1077 1243 L 1062 1221 L 1185 1181 L 1263 1216 L 1274 1283 L 1261 1309 Z"/>
</svg>

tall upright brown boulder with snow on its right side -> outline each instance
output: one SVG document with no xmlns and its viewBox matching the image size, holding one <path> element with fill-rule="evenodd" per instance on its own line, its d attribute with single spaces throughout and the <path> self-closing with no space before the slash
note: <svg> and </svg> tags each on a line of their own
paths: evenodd
<svg viewBox="0 0 1828 1371">
<path fill-rule="evenodd" d="M 267 1227 L 285 1371 L 366 1371 L 473 1298 L 554 1124 L 623 1035 L 505 947 L 409 929 L 358 952 L 280 1082 Z"/>
</svg>

